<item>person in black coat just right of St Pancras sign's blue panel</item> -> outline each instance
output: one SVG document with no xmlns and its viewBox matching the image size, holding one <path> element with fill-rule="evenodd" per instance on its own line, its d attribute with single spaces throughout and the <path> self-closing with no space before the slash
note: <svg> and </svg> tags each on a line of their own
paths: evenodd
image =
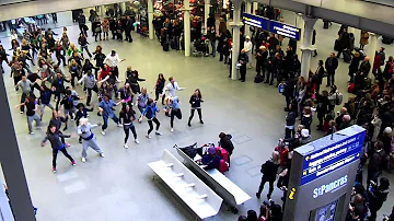
<svg viewBox="0 0 394 221">
<path fill-rule="evenodd" d="M 369 158 L 368 164 L 368 176 L 367 176 L 367 186 L 370 186 L 372 182 L 376 183 L 378 177 L 382 174 L 382 171 L 386 168 L 386 153 L 383 150 L 383 142 L 378 140 L 374 142 L 373 152 L 371 155 L 366 153 Z"/>
</svg>

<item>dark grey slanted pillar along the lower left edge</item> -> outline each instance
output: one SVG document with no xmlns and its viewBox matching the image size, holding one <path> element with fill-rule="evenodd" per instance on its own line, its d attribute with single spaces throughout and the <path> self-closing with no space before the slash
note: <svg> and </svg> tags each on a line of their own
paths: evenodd
<svg viewBox="0 0 394 221">
<path fill-rule="evenodd" d="M 3 78 L 0 78 L 0 162 L 16 221 L 36 221 L 18 147 Z M 2 188 L 1 188 L 2 191 Z M 0 217 L 1 218 L 1 217 Z M 7 218 L 5 218 L 7 219 Z M 13 219 L 12 219 L 13 220 Z"/>
</svg>

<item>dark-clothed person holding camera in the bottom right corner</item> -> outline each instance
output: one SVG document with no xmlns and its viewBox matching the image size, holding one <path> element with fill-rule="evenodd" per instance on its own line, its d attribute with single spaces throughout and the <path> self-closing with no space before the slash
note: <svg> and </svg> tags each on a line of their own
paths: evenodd
<svg viewBox="0 0 394 221">
<path fill-rule="evenodd" d="M 369 198 L 369 209 L 371 216 L 368 218 L 369 221 L 376 220 L 376 213 L 382 208 L 383 202 L 387 199 L 390 190 L 390 182 L 386 177 L 381 177 L 379 185 L 371 181 L 371 189 L 368 193 Z"/>
</svg>

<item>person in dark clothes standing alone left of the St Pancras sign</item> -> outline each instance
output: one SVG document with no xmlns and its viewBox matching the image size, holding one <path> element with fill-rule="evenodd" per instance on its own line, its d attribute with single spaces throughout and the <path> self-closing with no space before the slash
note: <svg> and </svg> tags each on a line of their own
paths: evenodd
<svg viewBox="0 0 394 221">
<path fill-rule="evenodd" d="M 270 160 L 266 161 L 260 168 L 260 172 L 263 173 L 263 177 L 262 177 L 262 183 L 258 187 L 258 191 L 256 193 L 256 197 L 257 199 L 260 198 L 262 191 L 264 189 L 264 185 L 265 183 L 269 183 L 269 190 L 267 194 L 267 199 L 270 199 L 271 194 L 274 191 L 274 182 L 276 179 L 277 176 L 277 172 L 279 168 L 279 152 L 278 151 L 274 151 L 273 152 L 273 156 Z"/>
</svg>

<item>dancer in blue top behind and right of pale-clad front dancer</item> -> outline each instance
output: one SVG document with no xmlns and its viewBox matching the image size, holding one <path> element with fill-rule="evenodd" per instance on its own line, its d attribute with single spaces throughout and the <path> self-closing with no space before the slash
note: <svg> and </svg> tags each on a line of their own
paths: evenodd
<svg viewBox="0 0 394 221">
<path fill-rule="evenodd" d="M 111 100 L 111 95 L 104 94 L 103 101 L 101 101 L 99 104 L 99 112 L 103 116 L 103 120 L 104 120 L 104 124 L 102 126 L 102 135 L 105 136 L 105 129 L 108 127 L 108 118 L 113 119 L 118 127 L 121 127 L 119 119 L 116 117 L 113 111 L 113 107 L 119 105 L 121 101 L 118 103 L 113 102 Z"/>
</svg>

